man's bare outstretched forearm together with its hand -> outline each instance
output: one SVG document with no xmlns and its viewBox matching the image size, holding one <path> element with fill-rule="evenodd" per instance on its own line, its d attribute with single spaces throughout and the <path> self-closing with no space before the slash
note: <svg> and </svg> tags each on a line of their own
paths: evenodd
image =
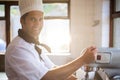
<svg viewBox="0 0 120 80">
<path fill-rule="evenodd" d="M 42 80 L 67 80 L 67 78 L 84 64 L 89 64 L 95 60 L 95 47 L 89 47 L 81 57 L 72 62 L 49 70 Z"/>
</svg>

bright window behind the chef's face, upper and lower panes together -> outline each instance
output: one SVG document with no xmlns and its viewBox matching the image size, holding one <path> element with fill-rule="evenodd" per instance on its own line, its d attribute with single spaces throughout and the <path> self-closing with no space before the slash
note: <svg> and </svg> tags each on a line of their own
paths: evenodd
<svg viewBox="0 0 120 80">
<path fill-rule="evenodd" d="M 53 53 L 68 53 L 70 49 L 69 4 L 44 3 L 45 20 L 40 42 L 50 46 Z"/>
</svg>

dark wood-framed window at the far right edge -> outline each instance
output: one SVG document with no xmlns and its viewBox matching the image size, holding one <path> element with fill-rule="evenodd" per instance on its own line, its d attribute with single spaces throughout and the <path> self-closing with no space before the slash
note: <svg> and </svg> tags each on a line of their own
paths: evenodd
<svg viewBox="0 0 120 80">
<path fill-rule="evenodd" d="M 120 48 L 120 0 L 111 0 L 110 47 Z"/>
</svg>

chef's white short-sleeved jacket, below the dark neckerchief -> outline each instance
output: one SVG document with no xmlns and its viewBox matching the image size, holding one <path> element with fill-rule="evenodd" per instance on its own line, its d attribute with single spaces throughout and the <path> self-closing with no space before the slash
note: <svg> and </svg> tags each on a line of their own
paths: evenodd
<svg viewBox="0 0 120 80">
<path fill-rule="evenodd" d="M 5 71 L 9 80 L 40 80 L 55 65 L 44 54 L 39 54 L 35 44 L 16 37 L 5 54 Z"/>
</svg>

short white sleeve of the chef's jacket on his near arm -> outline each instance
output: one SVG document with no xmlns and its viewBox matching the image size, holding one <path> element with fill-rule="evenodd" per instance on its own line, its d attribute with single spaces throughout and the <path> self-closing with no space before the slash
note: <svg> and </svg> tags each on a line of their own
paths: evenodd
<svg viewBox="0 0 120 80">
<path fill-rule="evenodd" d="M 49 70 L 28 49 L 15 47 L 10 54 L 10 66 L 20 80 L 40 80 Z"/>
</svg>

